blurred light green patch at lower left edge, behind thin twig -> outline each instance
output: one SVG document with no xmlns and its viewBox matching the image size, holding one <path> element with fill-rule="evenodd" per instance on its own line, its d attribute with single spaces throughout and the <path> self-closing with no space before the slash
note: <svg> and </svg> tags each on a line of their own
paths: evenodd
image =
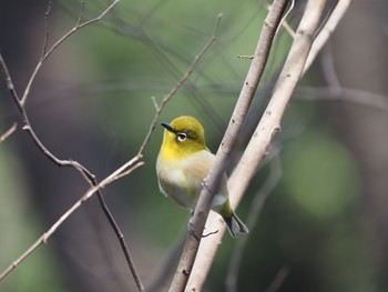
<svg viewBox="0 0 388 292">
<path fill-rule="evenodd" d="M 10 139 L 12 140 L 12 139 Z M 11 143 L 10 140 L 7 143 Z M 23 163 L 14 157 L 6 143 L 0 147 L 0 269 L 6 269 L 42 233 L 41 218 L 28 198 L 29 185 Z M 16 180 L 17 178 L 17 180 Z M 61 268 L 52 254 L 51 246 L 34 252 L 1 282 L 1 291 L 65 291 Z"/>
</svg>

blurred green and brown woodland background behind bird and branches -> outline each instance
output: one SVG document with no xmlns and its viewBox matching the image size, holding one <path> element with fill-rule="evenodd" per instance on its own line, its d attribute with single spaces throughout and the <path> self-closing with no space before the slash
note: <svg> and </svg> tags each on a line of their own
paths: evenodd
<svg viewBox="0 0 388 292">
<path fill-rule="evenodd" d="M 328 1 L 328 12 L 336 1 Z M 84 19 L 109 1 L 85 1 Z M 305 1 L 289 17 L 295 28 Z M 0 3 L 0 48 L 19 94 L 44 41 L 43 0 Z M 53 1 L 52 44 L 78 20 L 80 1 Z M 216 151 L 249 67 L 266 16 L 259 1 L 121 1 L 102 21 L 61 44 L 32 85 L 27 111 L 38 137 L 60 159 L 73 159 L 102 180 L 136 154 L 161 102 L 213 34 L 216 42 L 169 102 L 161 121 L 200 119 Z M 225 235 L 205 291 L 388 290 L 388 3 L 354 0 L 330 41 L 295 91 L 272 147 L 237 212 L 266 199 L 251 224 L 237 272 L 238 240 Z M 292 37 L 282 29 L 273 47 L 238 152 L 257 123 Z M 73 169 L 58 168 L 20 129 L 20 117 L 0 82 L 0 270 L 45 232 L 88 189 Z M 162 270 L 165 291 L 186 232 L 188 213 L 160 194 L 156 128 L 145 165 L 106 188 L 145 286 Z M 231 168 L 233 163 L 231 163 Z M 270 193 L 258 192 L 278 177 Z M 173 252 L 175 250 L 175 253 Z M 171 256 L 171 255 L 174 255 Z M 170 269 L 166 260 L 172 259 Z M 118 239 L 92 198 L 1 283 L 1 291 L 136 291 Z M 154 290 L 152 290 L 154 291 Z"/>
</svg>

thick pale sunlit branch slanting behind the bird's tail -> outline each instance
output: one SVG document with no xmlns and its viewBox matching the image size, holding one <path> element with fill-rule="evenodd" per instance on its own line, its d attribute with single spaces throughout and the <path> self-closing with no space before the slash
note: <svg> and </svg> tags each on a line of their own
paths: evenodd
<svg viewBox="0 0 388 292">
<path fill-rule="evenodd" d="M 280 119 L 300 78 L 325 4 L 326 0 L 309 0 L 307 2 L 305 13 L 300 20 L 297 34 L 274 89 L 273 97 L 242 159 L 228 180 L 228 190 L 229 194 L 232 194 L 231 204 L 233 208 L 236 208 L 241 201 L 248 183 L 265 157 L 270 141 L 280 129 Z M 207 224 L 212 224 L 212 229 L 218 230 L 218 233 L 212 238 L 212 241 L 202 242 L 193 269 L 195 281 L 190 281 L 187 285 L 188 290 L 200 291 L 202 289 L 205 275 L 207 274 L 217 251 L 218 243 L 225 231 L 225 224 L 219 221 L 219 218 L 211 214 L 211 220 L 212 221 L 208 221 Z"/>
</svg>

